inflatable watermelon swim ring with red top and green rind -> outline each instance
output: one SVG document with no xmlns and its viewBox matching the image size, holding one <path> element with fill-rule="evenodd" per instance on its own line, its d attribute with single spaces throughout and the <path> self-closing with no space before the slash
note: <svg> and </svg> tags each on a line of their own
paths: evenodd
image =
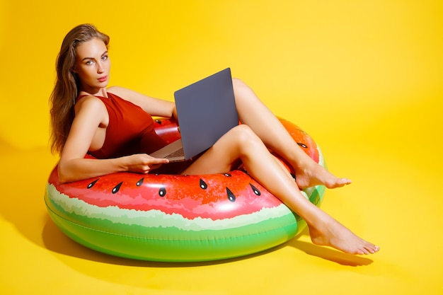
<svg viewBox="0 0 443 295">
<path fill-rule="evenodd" d="M 315 141 L 281 120 L 295 141 L 324 166 Z M 174 122 L 156 132 L 172 141 Z M 303 193 L 319 206 L 323 186 Z M 57 166 L 45 190 L 54 223 L 88 248 L 138 260 L 190 262 L 257 253 L 293 238 L 306 223 L 243 170 L 212 175 L 113 173 L 59 183 Z"/>
</svg>

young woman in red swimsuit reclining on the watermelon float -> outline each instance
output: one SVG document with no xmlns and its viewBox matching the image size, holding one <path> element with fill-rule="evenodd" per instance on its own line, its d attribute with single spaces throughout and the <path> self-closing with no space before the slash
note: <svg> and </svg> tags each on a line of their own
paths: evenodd
<svg viewBox="0 0 443 295">
<path fill-rule="evenodd" d="M 93 25 L 79 25 L 64 38 L 57 57 L 57 82 L 50 102 L 52 151 L 60 154 L 62 182 L 120 171 L 150 173 L 171 165 L 148 154 L 164 144 L 154 132 L 151 115 L 175 117 L 175 104 L 126 88 L 108 88 L 108 42 L 108 35 Z M 306 221 L 313 243 L 350 254 L 376 253 L 379 247 L 311 204 L 299 190 L 313 185 L 341 187 L 351 181 L 315 163 L 251 88 L 238 79 L 233 83 L 243 124 L 224 134 L 180 173 L 222 173 L 241 161 L 251 177 Z M 295 182 L 269 149 L 292 166 Z M 86 154 L 99 159 L 84 158 Z"/>
</svg>

